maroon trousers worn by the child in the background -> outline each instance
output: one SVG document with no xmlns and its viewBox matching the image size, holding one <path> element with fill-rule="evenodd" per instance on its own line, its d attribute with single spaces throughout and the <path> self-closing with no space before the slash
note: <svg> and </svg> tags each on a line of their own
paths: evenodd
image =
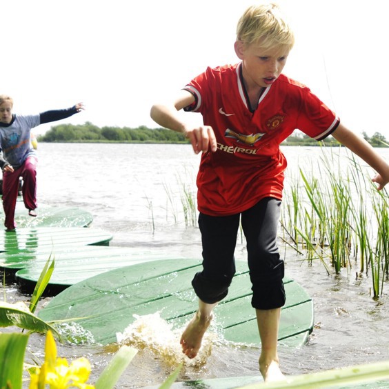
<svg viewBox="0 0 389 389">
<path fill-rule="evenodd" d="M 21 193 L 28 210 L 37 208 L 37 163 L 36 157 L 28 157 L 14 172 L 3 172 L 3 208 L 6 219 L 4 226 L 9 230 L 16 227 L 14 216 L 19 192 L 19 179 L 23 179 Z"/>
</svg>

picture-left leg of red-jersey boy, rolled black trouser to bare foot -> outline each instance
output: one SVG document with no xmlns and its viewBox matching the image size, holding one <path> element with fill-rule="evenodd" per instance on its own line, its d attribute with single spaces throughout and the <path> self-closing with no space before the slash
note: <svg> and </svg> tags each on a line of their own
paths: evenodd
<svg viewBox="0 0 389 389">
<path fill-rule="evenodd" d="M 212 320 L 212 310 L 226 297 L 235 275 L 235 246 L 240 215 L 212 217 L 199 215 L 203 244 L 203 270 L 192 280 L 199 297 L 199 309 L 183 331 L 182 351 L 189 358 L 196 357 L 201 341 Z"/>
</svg>

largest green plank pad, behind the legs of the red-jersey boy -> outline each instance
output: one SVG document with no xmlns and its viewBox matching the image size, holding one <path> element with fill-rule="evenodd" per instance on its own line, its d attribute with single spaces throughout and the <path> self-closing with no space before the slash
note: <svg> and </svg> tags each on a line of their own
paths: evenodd
<svg viewBox="0 0 389 389">
<path fill-rule="evenodd" d="M 77 320 L 97 343 L 117 341 L 134 322 L 134 314 L 159 312 L 162 319 L 179 328 L 197 310 L 191 281 L 201 270 L 197 259 L 161 259 L 118 268 L 81 281 L 54 297 L 38 314 L 46 321 Z M 280 341 L 301 346 L 313 328 L 313 303 L 306 290 L 284 279 L 287 301 L 283 307 Z M 228 297 L 215 308 L 215 324 L 229 341 L 259 343 L 255 310 L 250 303 L 251 283 L 247 264 L 237 262 Z"/>
</svg>

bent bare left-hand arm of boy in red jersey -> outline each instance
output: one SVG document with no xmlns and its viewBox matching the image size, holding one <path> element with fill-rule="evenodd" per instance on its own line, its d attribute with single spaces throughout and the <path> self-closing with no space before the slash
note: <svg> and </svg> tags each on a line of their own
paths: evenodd
<svg viewBox="0 0 389 389">
<path fill-rule="evenodd" d="M 181 90 L 175 101 L 168 104 L 154 104 L 150 110 L 150 117 L 164 128 L 182 132 L 190 140 L 196 154 L 217 150 L 215 133 L 210 126 L 192 127 L 184 123 L 178 115 L 178 111 L 190 106 L 194 102 L 193 95 Z"/>
</svg>

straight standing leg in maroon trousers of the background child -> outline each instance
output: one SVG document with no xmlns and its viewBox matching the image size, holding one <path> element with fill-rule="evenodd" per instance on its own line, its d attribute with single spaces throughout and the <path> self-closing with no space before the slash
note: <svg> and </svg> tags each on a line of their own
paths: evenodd
<svg viewBox="0 0 389 389">
<path fill-rule="evenodd" d="M 14 172 L 3 173 L 3 209 L 6 219 L 4 226 L 8 230 L 13 230 L 15 226 L 14 215 L 17 202 L 17 194 L 19 192 L 19 177 L 20 170 Z"/>
</svg>

